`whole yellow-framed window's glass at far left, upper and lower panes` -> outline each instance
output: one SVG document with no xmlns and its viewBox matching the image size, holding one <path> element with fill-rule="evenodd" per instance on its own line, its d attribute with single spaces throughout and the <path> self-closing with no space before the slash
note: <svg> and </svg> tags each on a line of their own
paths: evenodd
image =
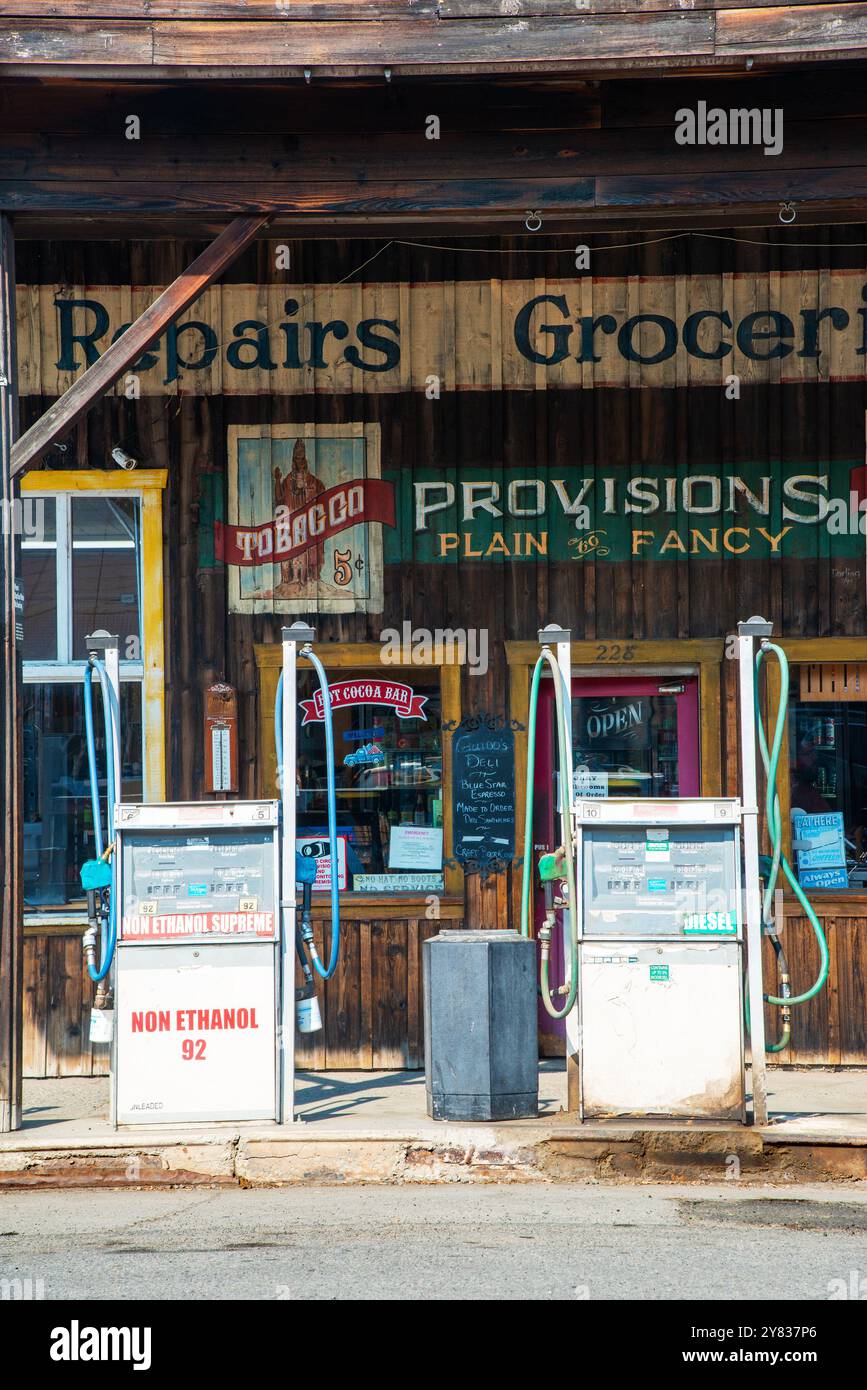
<svg viewBox="0 0 867 1390">
<path fill-rule="evenodd" d="M 93 492 L 32 502 L 39 525 L 22 539 L 24 899 L 42 909 L 81 902 L 79 869 L 94 853 L 82 677 L 96 628 L 119 638 L 122 794 L 143 798 L 142 502 Z M 99 694 L 94 705 L 104 796 Z"/>
</svg>

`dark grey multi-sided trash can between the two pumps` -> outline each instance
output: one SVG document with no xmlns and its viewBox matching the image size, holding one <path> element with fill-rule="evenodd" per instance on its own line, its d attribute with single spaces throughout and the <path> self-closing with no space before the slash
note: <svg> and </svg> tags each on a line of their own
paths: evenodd
<svg viewBox="0 0 867 1390">
<path fill-rule="evenodd" d="M 534 941 L 517 931 L 440 931 L 425 941 L 424 1027 L 432 1119 L 538 1115 Z"/>
</svg>

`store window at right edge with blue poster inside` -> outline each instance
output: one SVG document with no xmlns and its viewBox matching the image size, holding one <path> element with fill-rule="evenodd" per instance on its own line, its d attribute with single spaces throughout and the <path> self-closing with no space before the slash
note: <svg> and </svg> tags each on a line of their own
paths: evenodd
<svg viewBox="0 0 867 1390">
<path fill-rule="evenodd" d="M 792 667 L 789 805 L 800 884 L 811 891 L 867 890 L 863 663 Z"/>
</svg>

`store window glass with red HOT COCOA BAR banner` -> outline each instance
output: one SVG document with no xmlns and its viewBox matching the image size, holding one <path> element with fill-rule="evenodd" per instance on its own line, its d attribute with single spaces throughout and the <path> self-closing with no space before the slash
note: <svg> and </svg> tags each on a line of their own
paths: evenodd
<svg viewBox="0 0 867 1390">
<path fill-rule="evenodd" d="M 442 892 L 443 753 L 436 674 L 329 671 L 338 876 L 352 892 Z M 297 840 L 328 838 L 325 726 L 313 671 L 299 671 Z M 329 887 L 320 858 L 315 888 Z"/>
</svg>

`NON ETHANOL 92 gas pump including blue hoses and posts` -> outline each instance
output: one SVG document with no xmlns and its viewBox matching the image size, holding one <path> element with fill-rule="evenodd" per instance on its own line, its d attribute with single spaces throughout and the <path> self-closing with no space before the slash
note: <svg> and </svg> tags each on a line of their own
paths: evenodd
<svg viewBox="0 0 867 1390">
<path fill-rule="evenodd" d="M 311 926 L 317 856 L 331 852 L 336 865 L 331 699 L 314 635 L 297 623 L 283 628 L 275 719 L 281 801 L 165 805 L 122 801 L 117 638 L 86 639 L 96 856 L 81 870 L 90 919 L 85 955 L 99 984 L 92 1037 L 111 1041 L 115 1126 L 295 1119 L 296 1015 L 303 1031 L 321 1027 L 314 972 L 329 979 L 340 945 L 336 873 L 328 965 Z M 320 680 L 327 745 L 328 844 L 306 845 L 307 855 L 296 855 L 299 657 Z M 94 677 L 106 720 L 104 835 Z"/>
</svg>

